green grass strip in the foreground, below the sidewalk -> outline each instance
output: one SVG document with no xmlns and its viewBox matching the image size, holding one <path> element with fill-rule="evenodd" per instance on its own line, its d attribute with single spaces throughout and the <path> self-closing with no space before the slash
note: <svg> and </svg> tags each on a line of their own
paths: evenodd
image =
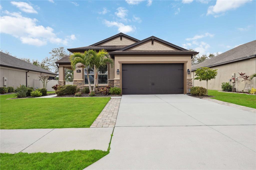
<svg viewBox="0 0 256 170">
<path fill-rule="evenodd" d="M 0 153 L 1 170 L 4 169 L 84 169 L 98 161 L 109 151 L 73 150 L 54 153 Z"/>
</svg>

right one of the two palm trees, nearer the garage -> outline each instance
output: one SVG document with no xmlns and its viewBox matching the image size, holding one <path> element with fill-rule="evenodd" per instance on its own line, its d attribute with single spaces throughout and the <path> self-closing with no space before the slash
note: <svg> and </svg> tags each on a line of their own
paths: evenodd
<svg viewBox="0 0 256 170">
<path fill-rule="evenodd" d="M 113 68 L 114 62 L 113 59 L 110 58 L 108 52 L 104 49 L 100 50 L 99 52 L 96 52 L 95 50 L 88 50 L 87 53 L 90 54 L 91 63 L 94 65 L 96 71 L 94 86 L 92 90 L 95 92 L 99 68 L 107 67 L 107 64 L 111 64 L 111 68 Z"/>
</svg>

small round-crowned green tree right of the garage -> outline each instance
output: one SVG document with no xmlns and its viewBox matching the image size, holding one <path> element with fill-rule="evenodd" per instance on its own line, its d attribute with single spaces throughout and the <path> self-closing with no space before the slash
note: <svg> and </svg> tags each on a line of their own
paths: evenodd
<svg viewBox="0 0 256 170">
<path fill-rule="evenodd" d="M 206 81 L 206 89 L 207 89 L 207 95 L 208 95 L 208 81 L 211 79 L 215 79 L 215 77 L 217 76 L 218 69 L 211 69 L 209 67 L 201 67 L 196 69 L 196 75 L 197 76 L 195 78 L 195 80 L 199 80 L 199 81 Z"/>
</svg>

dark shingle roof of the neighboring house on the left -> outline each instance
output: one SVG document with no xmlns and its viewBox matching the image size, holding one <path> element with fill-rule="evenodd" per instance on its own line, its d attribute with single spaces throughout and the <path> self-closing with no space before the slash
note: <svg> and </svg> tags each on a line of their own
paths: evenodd
<svg viewBox="0 0 256 170">
<path fill-rule="evenodd" d="M 35 66 L 33 64 L 30 64 L 30 63 L 25 62 L 25 61 L 23 61 L 21 59 L 18 59 L 16 57 L 5 54 L 3 52 L 0 52 L 0 58 L 1 58 L 0 59 L 0 66 L 3 66 L 3 67 L 10 67 L 10 68 L 16 68 L 16 69 L 36 71 L 36 72 L 58 75 L 54 72 L 48 71 L 48 70 L 43 69 L 43 68 L 38 67 L 38 66 Z"/>
</svg>

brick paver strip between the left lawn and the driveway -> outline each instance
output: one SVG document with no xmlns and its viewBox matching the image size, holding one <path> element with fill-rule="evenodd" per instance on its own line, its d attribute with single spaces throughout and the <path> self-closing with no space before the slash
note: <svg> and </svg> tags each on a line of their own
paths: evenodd
<svg viewBox="0 0 256 170">
<path fill-rule="evenodd" d="M 121 98 L 111 98 L 90 128 L 115 127 Z"/>
</svg>

